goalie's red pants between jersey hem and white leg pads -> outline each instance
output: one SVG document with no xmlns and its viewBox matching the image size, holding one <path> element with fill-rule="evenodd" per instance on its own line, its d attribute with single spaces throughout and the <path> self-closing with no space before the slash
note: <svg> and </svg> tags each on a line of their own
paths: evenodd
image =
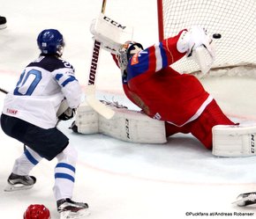
<svg viewBox="0 0 256 219">
<path fill-rule="evenodd" d="M 234 122 L 222 113 L 221 108 L 217 105 L 215 99 L 213 99 L 198 119 L 192 120 L 182 127 L 177 127 L 165 122 L 165 129 L 167 137 L 176 133 L 191 133 L 200 140 L 207 149 L 211 150 L 213 147 L 212 128 L 216 125 L 234 124 Z"/>
</svg>

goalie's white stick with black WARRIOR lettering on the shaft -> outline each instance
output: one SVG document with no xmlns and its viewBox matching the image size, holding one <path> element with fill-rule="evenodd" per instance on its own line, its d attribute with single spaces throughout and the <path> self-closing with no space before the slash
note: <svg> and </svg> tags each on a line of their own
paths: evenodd
<svg viewBox="0 0 256 219">
<path fill-rule="evenodd" d="M 102 0 L 102 13 L 105 12 L 107 0 Z M 100 56 L 101 50 L 101 42 L 98 40 L 94 40 L 94 48 L 93 48 L 93 55 L 92 61 L 90 66 L 88 84 L 86 88 L 86 99 L 87 103 L 94 108 L 94 110 L 106 119 L 110 119 L 114 116 L 115 112 L 111 110 L 109 107 L 105 106 L 100 102 L 100 100 L 95 98 L 95 79 L 96 79 L 96 71 L 98 60 Z"/>
</svg>

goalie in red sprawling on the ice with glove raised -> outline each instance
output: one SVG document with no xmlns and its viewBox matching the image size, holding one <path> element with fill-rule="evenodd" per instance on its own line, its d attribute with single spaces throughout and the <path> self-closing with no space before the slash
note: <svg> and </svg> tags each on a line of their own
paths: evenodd
<svg viewBox="0 0 256 219">
<path fill-rule="evenodd" d="M 98 19 L 98 22 L 104 22 L 101 16 Z M 235 124 L 222 113 L 196 77 L 180 74 L 169 67 L 184 55 L 192 56 L 198 62 L 199 55 L 194 55 L 198 48 L 211 57 L 211 62 L 215 60 L 213 40 L 203 28 L 194 26 L 190 30 L 181 30 L 176 36 L 147 48 L 134 41 L 115 42 L 107 30 L 98 28 L 95 22 L 91 26 L 94 38 L 102 42 L 102 48 L 111 52 L 121 70 L 126 97 L 139 106 L 141 112 L 111 105 L 115 115 L 107 120 L 85 103 L 79 106 L 73 130 L 143 143 L 164 143 L 176 133 L 191 133 L 215 156 L 254 155 L 256 126 Z M 109 50 L 113 45 L 115 49 Z M 200 66 L 205 70 L 209 62 L 200 59 Z"/>
</svg>

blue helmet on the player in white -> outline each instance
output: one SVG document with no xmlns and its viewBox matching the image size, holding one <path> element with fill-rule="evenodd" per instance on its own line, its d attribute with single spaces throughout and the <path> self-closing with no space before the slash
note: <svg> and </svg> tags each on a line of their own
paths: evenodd
<svg viewBox="0 0 256 219">
<path fill-rule="evenodd" d="M 55 29 L 46 29 L 39 33 L 37 45 L 42 54 L 56 54 L 61 56 L 63 53 L 63 35 Z"/>
</svg>

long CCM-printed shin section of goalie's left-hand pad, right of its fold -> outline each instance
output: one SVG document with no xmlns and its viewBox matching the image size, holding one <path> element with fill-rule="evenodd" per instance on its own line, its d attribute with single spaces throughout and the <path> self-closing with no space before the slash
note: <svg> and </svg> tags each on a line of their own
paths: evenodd
<svg viewBox="0 0 256 219">
<path fill-rule="evenodd" d="M 127 142 L 167 142 L 164 122 L 125 108 L 115 109 L 113 120 L 100 116 L 99 132 Z"/>
</svg>

